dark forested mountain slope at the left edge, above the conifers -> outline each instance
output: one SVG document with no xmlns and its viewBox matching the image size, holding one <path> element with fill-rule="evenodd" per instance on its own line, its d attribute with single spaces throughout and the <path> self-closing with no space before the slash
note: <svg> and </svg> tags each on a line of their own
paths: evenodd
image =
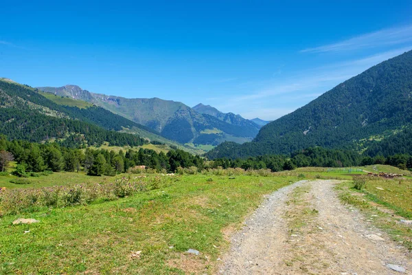
<svg viewBox="0 0 412 275">
<path fill-rule="evenodd" d="M 1 134 L 32 142 L 58 139 L 68 146 L 147 143 L 138 135 L 117 132 L 144 126 L 100 107 L 80 109 L 56 104 L 36 89 L 7 78 L 0 79 L 0 122 Z"/>
</svg>

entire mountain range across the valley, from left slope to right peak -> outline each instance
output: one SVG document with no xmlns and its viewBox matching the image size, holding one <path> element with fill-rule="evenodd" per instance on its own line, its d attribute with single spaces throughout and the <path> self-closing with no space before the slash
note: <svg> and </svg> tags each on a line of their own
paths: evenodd
<svg viewBox="0 0 412 275">
<path fill-rule="evenodd" d="M 106 96 L 76 85 L 32 88 L 7 78 L 0 78 L 0 122 L 0 133 L 9 138 L 68 146 L 209 144 L 216 146 L 205 154 L 209 159 L 288 155 L 316 146 L 370 156 L 411 153 L 412 51 L 273 122 L 205 104 L 190 108 L 159 98 Z"/>
</svg>

